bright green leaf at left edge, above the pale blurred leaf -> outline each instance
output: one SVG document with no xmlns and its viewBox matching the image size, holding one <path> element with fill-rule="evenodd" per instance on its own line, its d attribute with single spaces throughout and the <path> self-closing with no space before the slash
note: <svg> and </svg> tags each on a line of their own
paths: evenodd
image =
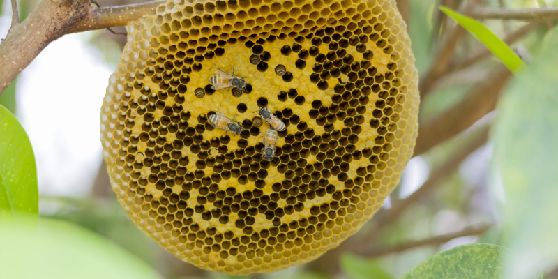
<svg viewBox="0 0 558 279">
<path fill-rule="evenodd" d="M 0 105 L 0 216 L 38 214 L 37 168 L 27 133 Z"/>
</svg>

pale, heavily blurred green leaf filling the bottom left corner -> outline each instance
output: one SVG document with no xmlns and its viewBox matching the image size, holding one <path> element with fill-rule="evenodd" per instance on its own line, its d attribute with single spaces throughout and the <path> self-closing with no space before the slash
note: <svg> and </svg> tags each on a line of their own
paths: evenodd
<svg viewBox="0 0 558 279">
<path fill-rule="evenodd" d="M 70 223 L 39 218 L 33 229 L 3 219 L 0 227 L 0 278 L 160 278 L 129 252 Z"/>
</svg>

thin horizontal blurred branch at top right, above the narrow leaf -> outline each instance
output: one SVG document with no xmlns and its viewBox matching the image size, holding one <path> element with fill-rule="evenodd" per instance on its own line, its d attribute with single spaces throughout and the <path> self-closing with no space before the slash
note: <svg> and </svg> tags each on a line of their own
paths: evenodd
<svg viewBox="0 0 558 279">
<path fill-rule="evenodd" d="M 478 20 L 556 20 L 558 7 L 517 9 L 476 7 L 467 15 Z"/>
</svg>

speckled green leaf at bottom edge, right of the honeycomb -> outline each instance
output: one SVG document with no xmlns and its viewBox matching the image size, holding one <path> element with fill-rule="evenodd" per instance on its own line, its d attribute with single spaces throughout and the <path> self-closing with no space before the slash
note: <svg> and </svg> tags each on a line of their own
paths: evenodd
<svg viewBox="0 0 558 279">
<path fill-rule="evenodd" d="M 505 254 L 502 246 L 492 244 L 458 246 L 429 257 L 400 279 L 507 278 L 500 263 Z"/>
</svg>

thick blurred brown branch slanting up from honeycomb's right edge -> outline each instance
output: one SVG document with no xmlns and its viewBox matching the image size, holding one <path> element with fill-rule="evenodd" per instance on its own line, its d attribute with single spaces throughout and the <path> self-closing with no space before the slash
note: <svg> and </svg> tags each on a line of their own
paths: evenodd
<svg viewBox="0 0 558 279">
<path fill-rule="evenodd" d="M 511 72 L 499 65 L 491 71 L 485 81 L 474 86 L 472 92 L 460 103 L 434 119 L 421 121 L 418 125 L 414 156 L 455 137 L 494 110 L 497 99 L 510 77 Z"/>
</svg>

